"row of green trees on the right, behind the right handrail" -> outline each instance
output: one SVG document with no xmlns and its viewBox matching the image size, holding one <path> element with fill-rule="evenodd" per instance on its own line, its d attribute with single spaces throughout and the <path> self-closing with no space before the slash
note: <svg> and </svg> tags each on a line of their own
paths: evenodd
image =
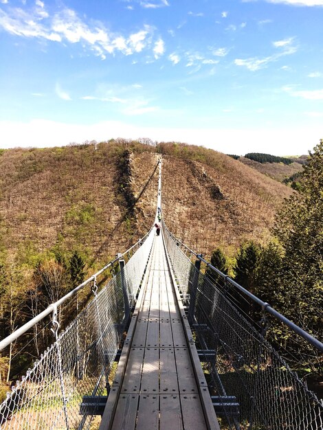
<svg viewBox="0 0 323 430">
<path fill-rule="evenodd" d="M 297 190 L 276 215 L 274 241 L 268 245 L 244 243 L 231 266 L 223 251 L 215 249 L 211 264 L 322 341 L 323 139 L 309 153 Z M 210 271 L 209 275 L 220 282 L 218 275 Z M 243 313 L 260 320 L 260 310 L 252 303 L 238 295 L 234 301 Z M 276 348 L 296 366 L 322 374 L 318 352 L 305 341 L 296 343 L 295 335 L 282 330 L 274 319 L 269 332 Z"/>
</svg>

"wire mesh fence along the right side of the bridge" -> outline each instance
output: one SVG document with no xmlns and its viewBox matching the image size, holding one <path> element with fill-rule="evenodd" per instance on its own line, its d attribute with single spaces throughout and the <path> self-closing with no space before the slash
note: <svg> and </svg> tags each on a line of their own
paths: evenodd
<svg viewBox="0 0 323 430">
<path fill-rule="evenodd" d="M 179 289 L 190 297 L 197 348 L 223 428 L 321 430 L 323 405 L 265 339 L 265 317 L 252 324 L 223 280 L 194 267 L 167 229 L 164 237 Z"/>
</svg>

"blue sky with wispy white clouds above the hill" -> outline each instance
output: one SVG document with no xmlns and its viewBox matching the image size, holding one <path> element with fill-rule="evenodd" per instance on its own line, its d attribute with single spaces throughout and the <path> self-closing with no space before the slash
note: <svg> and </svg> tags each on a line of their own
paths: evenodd
<svg viewBox="0 0 323 430">
<path fill-rule="evenodd" d="M 0 0 L 2 148 L 116 137 L 307 153 L 323 0 Z"/>
</svg>

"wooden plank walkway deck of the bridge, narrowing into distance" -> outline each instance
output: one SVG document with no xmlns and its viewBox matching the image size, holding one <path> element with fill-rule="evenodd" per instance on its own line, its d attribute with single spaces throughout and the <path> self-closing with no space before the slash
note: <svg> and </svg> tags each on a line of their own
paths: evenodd
<svg viewBox="0 0 323 430">
<path fill-rule="evenodd" d="M 162 236 L 145 278 L 100 430 L 218 430 Z"/>
</svg>

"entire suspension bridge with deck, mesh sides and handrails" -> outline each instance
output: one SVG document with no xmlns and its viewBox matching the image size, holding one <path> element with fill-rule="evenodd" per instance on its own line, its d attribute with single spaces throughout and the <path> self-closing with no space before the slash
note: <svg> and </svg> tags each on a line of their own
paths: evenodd
<svg viewBox="0 0 323 430">
<path fill-rule="evenodd" d="M 160 212 L 161 161 L 155 223 Z M 60 308 L 84 288 L 93 299 L 60 330 Z M 259 329 L 234 306 L 230 288 L 260 306 Z M 5 351 L 52 320 L 54 343 L 0 405 L 0 428 L 322 429 L 322 402 L 266 340 L 267 315 L 322 353 L 320 341 L 183 245 L 162 221 L 159 236 L 153 227 L 0 342 Z"/>
</svg>

